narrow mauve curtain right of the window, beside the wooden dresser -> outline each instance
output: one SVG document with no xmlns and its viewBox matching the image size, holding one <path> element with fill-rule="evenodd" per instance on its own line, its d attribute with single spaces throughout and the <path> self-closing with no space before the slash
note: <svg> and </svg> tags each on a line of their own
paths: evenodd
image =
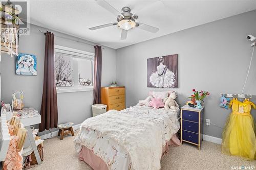
<svg viewBox="0 0 256 170">
<path fill-rule="evenodd" d="M 94 46 L 94 81 L 93 81 L 93 104 L 100 103 L 100 89 L 101 89 L 101 46 Z"/>
</svg>

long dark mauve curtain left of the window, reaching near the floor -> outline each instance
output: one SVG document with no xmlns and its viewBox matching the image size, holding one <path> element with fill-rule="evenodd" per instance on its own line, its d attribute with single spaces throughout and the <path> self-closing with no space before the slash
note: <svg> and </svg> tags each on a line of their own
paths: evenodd
<svg viewBox="0 0 256 170">
<path fill-rule="evenodd" d="M 58 108 L 55 85 L 54 35 L 46 32 L 44 87 L 41 103 L 41 124 L 39 132 L 57 128 Z"/>
</svg>

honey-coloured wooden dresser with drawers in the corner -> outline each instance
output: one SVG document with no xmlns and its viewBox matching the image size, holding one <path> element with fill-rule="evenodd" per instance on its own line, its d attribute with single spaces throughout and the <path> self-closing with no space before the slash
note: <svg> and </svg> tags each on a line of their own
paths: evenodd
<svg viewBox="0 0 256 170">
<path fill-rule="evenodd" d="M 125 87 L 101 87 L 101 103 L 107 111 L 125 109 Z"/>
</svg>

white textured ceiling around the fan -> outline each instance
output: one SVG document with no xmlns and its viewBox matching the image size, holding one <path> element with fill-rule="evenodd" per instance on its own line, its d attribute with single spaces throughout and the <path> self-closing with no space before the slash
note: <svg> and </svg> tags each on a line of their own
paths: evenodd
<svg viewBox="0 0 256 170">
<path fill-rule="evenodd" d="M 93 0 L 30 1 L 30 22 L 117 49 L 256 9 L 255 0 L 161 0 L 163 5 L 155 9 L 156 1 L 106 0 L 120 12 L 122 7 L 130 7 L 140 22 L 160 29 L 154 34 L 135 28 L 129 30 L 127 39 L 122 41 L 121 29 L 117 26 L 88 29 L 116 22 L 114 14 Z"/>
</svg>

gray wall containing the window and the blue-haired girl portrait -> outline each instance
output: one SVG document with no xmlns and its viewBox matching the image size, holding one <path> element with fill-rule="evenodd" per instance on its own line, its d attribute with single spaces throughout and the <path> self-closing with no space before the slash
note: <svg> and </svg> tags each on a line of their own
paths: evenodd
<svg viewBox="0 0 256 170">
<path fill-rule="evenodd" d="M 34 107 L 40 111 L 42 98 L 42 85 L 44 78 L 45 35 L 38 30 L 48 30 L 34 25 L 30 26 L 29 36 L 20 36 L 19 53 L 34 54 L 37 56 L 37 76 L 15 75 L 15 58 L 2 54 L 2 100 L 11 103 L 12 93 L 16 90 L 24 91 L 26 107 Z M 55 44 L 94 53 L 93 45 L 75 42 L 68 39 L 79 40 L 53 31 Z M 59 38 L 56 36 L 66 37 Z M 84 41 L 81 40 L 80 41 Z M 102 86 L 107 86 L 116 80 L 116 50 L 103 47 L 102 49 Z M 80 124 L 92 116 L 93 91 L 58 93 L 58 123 L 73 122 Z"/>
</svg>

